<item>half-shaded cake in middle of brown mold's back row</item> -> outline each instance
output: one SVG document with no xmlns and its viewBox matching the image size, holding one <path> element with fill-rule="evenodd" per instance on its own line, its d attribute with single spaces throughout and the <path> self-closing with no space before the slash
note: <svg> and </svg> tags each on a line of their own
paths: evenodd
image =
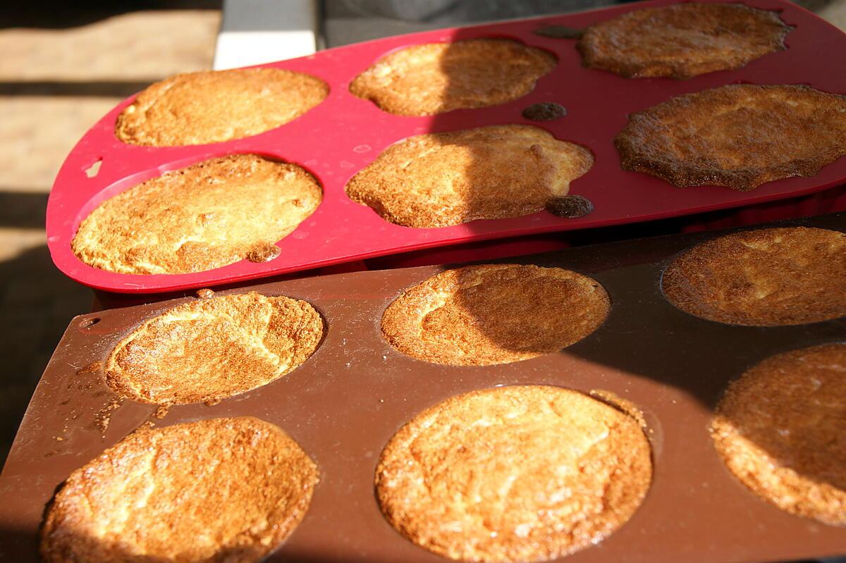
<svg viewBox="0 0 846 563">
<path fill-rule="evenodd" d="M 599 282 L 535 265 L 465 266 L 410 287 L 382 315 L 382 335 L 412 358 L 490 365 L 558 352 L 596 331 L 611 301 Z"/>
</svg>

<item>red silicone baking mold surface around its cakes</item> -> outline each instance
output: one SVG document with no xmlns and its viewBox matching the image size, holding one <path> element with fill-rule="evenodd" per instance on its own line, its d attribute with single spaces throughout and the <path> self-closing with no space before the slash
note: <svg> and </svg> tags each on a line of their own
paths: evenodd
<svg viewBox="0 0 846 563">
<path fill-rule="evenodd" d="M 824 167 L 813 178 L 788 178 L 766 183 L 750 192 L 716 186 L 678 189 L 661 179 L 620 168 L 612 139 L 624 128 L 626 116 L 672 96 L 739 82 L 806 84 L 819 90 L 846 92 L 846 73 L 840 70 L 846 68 L 846 35 L 816 15 L 782 0 L 750 0 L 745 4 L 778 10 L 785 23 L 795 26 L 787 37 L 787 50 L 761 57 L 739 70 L 704 74 L 689 80 L 624 79 L 582 68 L 575 41 L 534 33 L 546 25 L 583 28 L 634 9 L 671 3 L 658 0 L 581 14 L 427 31 L 261 65 L 315 75 L 327 82 L 331 89 L 329 96 L 294 122 L 265 134 L 225 143 L 172 148 L 125 145 L 114 136 L 113 128 L 118 113 L 132 101 L 129 98 L 85 134 L 58 173 L 47 204 L 47 243 L 52 260 L 66 275 L 91 287 L 114 292 L 164 292 L 453 243 L 602 227 L 750 205 L 810 194 L 844 183 L 846 158 Z M 420 43 L 478 37 L 512 38 L 546 49 L 558 57 L 558 65 L 538 80 L 535 90 L 519 100 L 432 117 L 392 115 L 349 93 L 349 82 L 387 52 Z M 568 111 L 566 117 L 552 122 L 532 122 L 522 117 L 525 107 L 541 101 L 562 104 Z M 530 123 L 546 128 L 558 139 L 590 148 L 596 157 L 594 167 L 572 184 L 570 193 L 589 198 L 595 210 L 578 219 L 541 211 L 514 219 L 415 229 L 384 221 L 369 207 L 349 200 L 344 194 L 343 187 L 349 178 L 399 139 L 502 123 Z M 242 260 L 192 274 L 140 276 L 97 270 L 74 256 L 70 241 L 80 221 L 103 200 L 162 172 L 233 153 L 258 153 L 295 162 L 310 170 L 323 187 L 320 207 L 278 243 L 282 252 L 275 260 L 262 264 Z M 99 172 L 88 178 L 85 171 L 96 161 L 101 161 Z M 249 220 L 244 217 L 244 221 Z"/>
</svg>

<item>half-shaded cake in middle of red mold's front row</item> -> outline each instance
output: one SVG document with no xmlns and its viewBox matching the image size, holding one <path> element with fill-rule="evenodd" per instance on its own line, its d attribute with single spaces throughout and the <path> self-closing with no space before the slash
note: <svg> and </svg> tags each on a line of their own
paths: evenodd
<svg viewBox="0 0 846 563">
<path fill-rule="evenodd" d="M 448 227 L 543 210 L 593 166 L 590 150 L 530 125 L 422 134 L 347 183 L 350 198 L 404 227 Z"/>
</svg>

